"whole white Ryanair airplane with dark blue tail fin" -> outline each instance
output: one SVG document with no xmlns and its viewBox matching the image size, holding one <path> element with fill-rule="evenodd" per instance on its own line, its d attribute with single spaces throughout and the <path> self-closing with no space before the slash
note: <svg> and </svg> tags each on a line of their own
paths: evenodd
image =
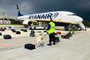
<svg viewBox="0 0 90 60">
<path fill-rule="evenodd" d="M 30 15 L 22 15 L 20 13 L 18 5 L 17 5 L 17 10 L 18 10 L 18 19 L 23 22 L 23 25 L 31 25 L 32 22 L 37 22 L 37 21 L 41 21 L 41 22 L 50 21 L 50 17 L 52 17 L 54 22 L 77 24 L 82 30 L 85 30 L 85 26 L 82 23 L 83 19 L 72 12 L 53 11 L 53 12 L 37 13 Z"/>
</svg>

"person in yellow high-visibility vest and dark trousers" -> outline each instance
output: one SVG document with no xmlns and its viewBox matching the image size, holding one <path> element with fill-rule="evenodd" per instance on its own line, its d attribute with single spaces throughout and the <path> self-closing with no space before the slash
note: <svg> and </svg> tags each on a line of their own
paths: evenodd
<svg viewBox="0 0 90 60">
<path fill-rule="evenodd" d="M 50 17 L 50 22 L 48 24 L 47 33 L 49 34 L 49 44 L 48 45 L 55 45 L 55 23 L 53 22 L 52 18 Z"/>
</svg>

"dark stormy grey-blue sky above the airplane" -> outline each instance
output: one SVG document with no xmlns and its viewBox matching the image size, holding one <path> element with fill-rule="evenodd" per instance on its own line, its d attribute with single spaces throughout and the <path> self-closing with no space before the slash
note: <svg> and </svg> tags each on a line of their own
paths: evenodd
<svg viewBox="0 0 90 60">
<path fill-rule="evenodd" d="M 23 15 L 50 12 L 70 11 L 90 21 L 90 0 L 0 0 L 0 12 L 17 16 L 16 4 Z"/>
</svg>

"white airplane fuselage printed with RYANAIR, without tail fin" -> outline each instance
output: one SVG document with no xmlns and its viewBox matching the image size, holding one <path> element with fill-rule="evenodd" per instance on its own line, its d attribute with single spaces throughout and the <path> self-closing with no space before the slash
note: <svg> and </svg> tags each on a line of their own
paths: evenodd
<svg viewBox="0 0 90 60">
<path fill-rule="evenodd" d="M 30 14 L 18 17 L 21 20 L 30 21 L 50 21 L 50 16 L 55 22 L 66 22 L 66 23 L 78 23 L 82 22 L 83 19 L 72 12 L 67 11 L 55 11 L 38 14 Z"/>
</svg>

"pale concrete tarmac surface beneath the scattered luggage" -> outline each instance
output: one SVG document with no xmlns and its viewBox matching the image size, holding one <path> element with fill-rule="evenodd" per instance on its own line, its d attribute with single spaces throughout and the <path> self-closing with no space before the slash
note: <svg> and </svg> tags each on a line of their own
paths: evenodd
<svg viewBox="0 0 90 60">
<path fill-rule="evenodd" d="M 35 37 L 29 36 L 30 31 L 22 32 L 21 35 L 11 31 L 2 33 L 6 32 L 13 38 L 5 40 L 0 37 L 0 60 L 90 60 L 90 29 L 76 31 L 70 39 L 62 38 L 60 43 L 52 46 L 47 46 L 48 35 L 46 35 L 43 39 L 45 45 L 34 50 L 24 48 L 25 44 L 36 42 Z M 61 32 L 66 34 L 68 31 Z"/>
</svg>

